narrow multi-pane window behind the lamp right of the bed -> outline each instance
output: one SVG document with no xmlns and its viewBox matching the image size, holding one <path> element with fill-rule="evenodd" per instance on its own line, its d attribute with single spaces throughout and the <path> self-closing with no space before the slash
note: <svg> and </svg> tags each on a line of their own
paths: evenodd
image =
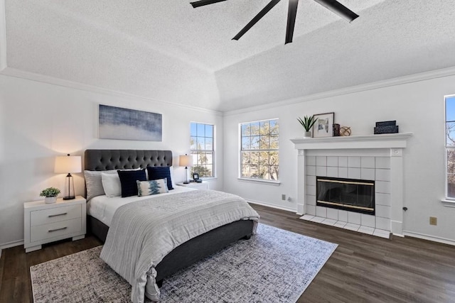
<svg viewBox="0 0 455 303">
<path fill-rule="evenodd" d="M 191 123 L 191 155 L 193 167 L 191 175 L 197 172 L 199 177 L 215 177 L 213 173 L 213 130 L 215 126 L 203 123 Z"/>
</svg>

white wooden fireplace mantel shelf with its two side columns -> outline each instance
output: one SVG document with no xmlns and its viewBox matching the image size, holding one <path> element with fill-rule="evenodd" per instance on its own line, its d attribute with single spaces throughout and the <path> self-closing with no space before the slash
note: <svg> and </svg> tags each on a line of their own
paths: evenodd
<svg viewBox="0 0 455 303">
<path fill-rule="evenodd" d="M 326 138 L 295 138 L 291 139 L 297 155 L 297 213 L 306 214 L 306 155 L 308 153 L 346 153 L 355 151 L 356 154 L 371 152 L 372 150 L 383 150 L 390 157 L 390 184 L 391 184 L 391 205 L 390 205 L 390 231 L 397 236 L 403 233 L 403 200 L 404 200 L 404 167 L 403 148 L 407 147 L 407 140 L 412 133 L 387 133 L 382 135 L 362 135 L 347 137 L 326 137 Z M 313 151 L 314 150 L 314 151 Z M 389 151 L 390 150 L 390 153 Z"/>
</svg>

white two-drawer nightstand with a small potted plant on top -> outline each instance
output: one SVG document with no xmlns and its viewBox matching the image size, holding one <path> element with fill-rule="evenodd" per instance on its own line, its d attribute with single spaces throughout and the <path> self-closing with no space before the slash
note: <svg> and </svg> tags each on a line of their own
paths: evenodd
<svg viewBox="0 0 455 303">
<path fill-rule="evenodd" d="M 23 247 L 26 253 L 41 245 L 65 238 L 73 241 L 85 237 L 85 199 L 57 199 L 53 204 L 42 201 L 23 204 Z"/>
</svg>

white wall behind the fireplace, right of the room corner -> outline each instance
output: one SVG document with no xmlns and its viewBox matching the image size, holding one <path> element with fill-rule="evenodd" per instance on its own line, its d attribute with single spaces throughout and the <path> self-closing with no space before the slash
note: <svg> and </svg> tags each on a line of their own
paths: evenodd
<svg viewBox="0 0 455 303">
<path fill-rule="evenodd" d="M 405 149 L 404 229 L 408 235 L 455 241 L 455 208 L 443 206 L 444 198 L 444 95 L 455 93 L 455 76 L 365 90 L 267 109 L 231 112 L 224 119 L 224 189 L 264 204 L 296 210 L 296 150 L 289 141 L 301 138 L 298 116 L 335 112 L 336 123 L 351 126 L 353 135 L 371 134 L 375 121 L 397 120 L 400 132 L 414 133 Z M 279 119 L 279 180 L 270 184 L 237 180 L 239 159 L 238 123 Z M 429 225 L 437 216 L 438 225 Z M 455 243 L 455 242 L 452 242 Z"/>
</svg>

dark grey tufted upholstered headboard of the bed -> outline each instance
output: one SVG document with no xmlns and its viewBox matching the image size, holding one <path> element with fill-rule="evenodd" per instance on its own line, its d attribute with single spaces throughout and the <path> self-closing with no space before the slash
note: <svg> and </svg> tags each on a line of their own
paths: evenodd
<svg viewBox="0 0 455 303">
<path fill-rule="evenodd" d="M 84 170 L 171 166 L 171 150 L 85 150 Z"/>
</svg>

